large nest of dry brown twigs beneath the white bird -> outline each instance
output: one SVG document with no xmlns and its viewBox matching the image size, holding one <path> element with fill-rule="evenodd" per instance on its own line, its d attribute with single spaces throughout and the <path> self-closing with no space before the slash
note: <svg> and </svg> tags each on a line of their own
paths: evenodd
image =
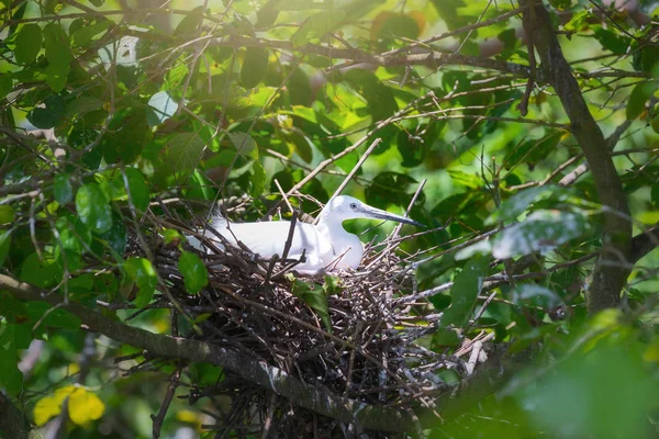
<svg viewBox="0 0 659 439">
<path fill-rule="evenodd" d="M 176 227 L 176 218 L 150 221 Z M 138 241 L 133 239 L 130 252 L 142 252 Z M 398 241 L 400 238 L 390 236 L 380 245 L 367 245 L 365 268 L 332 273 L 338 288 L 327 295 L 327 328 L 319 313 L 295 294 L 300 281 L 286 275 L 295 261 L 261 260 L 231 246 L 198 252 L 210 283 L 191 295 L 177 269 L 179 249 L 154 237 L 149 247 L 168 293 L 150 307 L 168 307 L 179 322 L 181 316 L 197 322 L 194 330 L 180 334 L 172 324 L 172 335 L 247 353 L 335 395 L 401 409 L 432 408 L 433 394 L 446 389 L 435 371 L 455 367 L 456 360 L 414 344 L 435 325 L 432 318 L 418 316 L 423 305 L 411 313 L 413 305 L 399 300 L 414 291 L 415 280 L 395 252 Z M 302 281 L 309 289 L 325 284 L 323 278 Z M 263 435 L 264 429 L 269 437 L 281 438 L 391 437 L 316 415 L 226 370 L 211 386 L 192 384 L 190 403 L 201 397 L 210 397 L 214 406 L 206 410 L 214 424 L 205 427 L 216 430 L 217 437 Z"/>
</svg>

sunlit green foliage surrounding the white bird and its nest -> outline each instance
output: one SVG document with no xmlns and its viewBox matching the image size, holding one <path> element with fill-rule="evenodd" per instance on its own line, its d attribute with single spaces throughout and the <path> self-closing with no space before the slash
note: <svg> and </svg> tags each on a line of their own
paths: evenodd
<svg viewBox="0 0 659 439">
<path fill-rule="evenodd" d="M 87 333 L 89 322 L 72 311 L 194 339 L 204 314 L 176 318 L 154 255 L 176 255 L 171 275 L 203 297 L 211 264 L 185 235 L 203 227 L 211 204 L 223 200 L 245 221 L 281 207 L 286 218 L 283 193 L 317 213 L 381 138 L 344 192 L 409 209 L 428 226 L 395 243 L 415 280 L 401 281 L 407 299 L 389 297 L 410 300 L 404 325 L 418 329 L 414 346 L 442 359 L 423 380 L 432 382 L 428 397 L 448 408 L 442 419 L 421 416 L 418 428 L 431 437 L 656 429 L 652 2 L 544 5 L 571 68 L 561 74 L 579 87 L 568 98 L 539 53 L 529 67 L 528 8 L 516 3 L 179 3 L 0 8 L 0 390 L 33 425 L 57 428 L 60 418 L 70 437 L 119 429 L 150 437 L 148 415 L 172 376 L 196 390 L 222 380 L 219 368 L 183 364 L 174 353 L 150 374 L 122 378 L 113 358 L 138 371 L 153 359 L 119 337 Z M 536 47 L 551 43 L 539 31 L 533 37 Z M 573 120 L 570 105 L 581 99 L 588 111 Z M 604 134 L 596 156 L 616 172 L 589 156 L 584 127 Z M 613 216 L 633 232 L 616 230 Z M 392 228 L 367 230 L 362 240 L 382 240 Z M 597 314 L 593 285 L 612 267 L 626 279 L 612 303 L 619 309 Z M 349 297 L 340 275 L 287 278 L 319 330 L 332 333 L 327 296 Z M 44 301 L 20 300 L 10 281 L 41 289 Z M 466 406 L 473 376 L 496 361 L 485 351 L 505 361 L 533 352 L 533 360 L 502 360 L 505 379 L 480 395 L 481 405 Z M 448 392 L 457 383 L 465 389 Z M 211 403 L 169 403 L 154 430 L 214 423 Z"/>
</svg>

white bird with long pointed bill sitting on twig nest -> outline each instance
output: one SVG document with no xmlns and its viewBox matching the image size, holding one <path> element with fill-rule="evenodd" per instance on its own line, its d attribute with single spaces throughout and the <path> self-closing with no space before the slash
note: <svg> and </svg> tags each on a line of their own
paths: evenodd
<svg viewBox="0 0 659 439">
<path fill-rule="evenodd" d="M 300 259 L 304 252 L 305 260 L 297 264 L 294 270 L 300 274 L 317 274 L 325 270 L 359 267 L 364 245 L 357 235 L 343 228 L 344 221 L 354 218 L 389 219 L 424 227 L 421 223 L 369 206 L 353 196 L 335 196 L 321 211 L 316 225 L 295 223 L 288 258 Z M 217 215 L 212 219 L 210 227 L 217 230 L 231 245 L 237 247 L 237 241 L 241 241 L 252 252 L 271 258 L 275 255 L 283 255 L 291 223 L 230 223 Z M 205 236 L 217 240 L 211 230 L 206 230 Z M 194 244 L 193 246 L 197 247 Z"/>
</svg>

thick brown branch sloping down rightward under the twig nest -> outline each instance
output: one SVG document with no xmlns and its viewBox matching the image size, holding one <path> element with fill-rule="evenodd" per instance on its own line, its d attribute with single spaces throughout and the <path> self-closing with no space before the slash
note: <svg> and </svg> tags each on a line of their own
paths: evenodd
<svg viewBox="0 0 659 439">
<path fill-rule="evenodd" d="M 359 427 L 380 431 L 405 431 L 412 425 L 406 413 L 323 392 L 287 374 L 281 369 L 243 352 L 199 340 L 153 334 L 124 325 L 78 303 L 65 304 L 55 294 L 46 294 L 36 286 L 19 282 L 4 274 L 0 274 L 0 290 L 9 291 L 13 296 L 23 301 L 46 301 L 53 306 L 58 306 L 76 315 L 87 329 L 144 349 L 152 356 L 188 359 L 220 365 L 264 389 L 275 391 L 290 399 L 292 404 L 343 423 L 355 423 Z"/>
</svg>

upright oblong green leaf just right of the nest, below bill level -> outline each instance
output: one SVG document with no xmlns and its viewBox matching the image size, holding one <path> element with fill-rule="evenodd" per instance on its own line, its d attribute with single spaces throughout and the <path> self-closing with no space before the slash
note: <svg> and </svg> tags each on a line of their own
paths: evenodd
<svg viewBox="0 0 659 439">
<path fill-rule="evenodd" d="M 488 275 L 489 263 L 490 258 L 482 256 L 476 256 L 467 261 L 450 289 L 451 303 L 442 316 L 442 326 L 463 327 L 467 325 Z"/>
</svg>

